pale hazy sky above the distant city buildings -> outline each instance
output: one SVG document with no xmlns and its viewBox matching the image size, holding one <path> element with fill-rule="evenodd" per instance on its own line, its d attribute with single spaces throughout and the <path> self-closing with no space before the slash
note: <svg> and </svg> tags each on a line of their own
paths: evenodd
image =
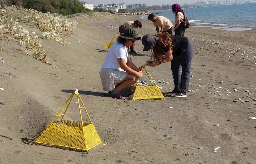
<svg viewBox="0 0 256 164">
<path fill-rule="evenodd" d="M 182 3 L 194 3 L 201 0 L 129 0 L 129 1 L 122 1 L 122 0 L 80 0 L 80 1 L 88 1 L 89 3 L 93 3 L 94 6 L 97 6 L 98 4 L 120 4 L 121 2 L 126 2 L 126 4 L 134 4 L 134 3 L 146 3 L 148 6 L 152 5 L 162 5 L 162 4 L 182 4 Z"/>
</svg>

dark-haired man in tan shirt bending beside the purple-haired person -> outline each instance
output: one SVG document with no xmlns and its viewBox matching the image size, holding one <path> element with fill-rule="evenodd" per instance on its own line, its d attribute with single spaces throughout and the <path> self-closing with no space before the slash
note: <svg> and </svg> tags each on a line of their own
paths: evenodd
<svg viewBox="0 0 256 164">
<path fill-rule="evenodd" d="M 154 23 L 156 27 L 156 31 L 160 33 L 169 33 L 172 35 L 172 23 L 169 19 L 163 17 L 163 16 L 155 16 L 154 14 L 149 14 L 148 20 Z M 159 27 L 161 30 L 159 30 Z"/>
</svg>

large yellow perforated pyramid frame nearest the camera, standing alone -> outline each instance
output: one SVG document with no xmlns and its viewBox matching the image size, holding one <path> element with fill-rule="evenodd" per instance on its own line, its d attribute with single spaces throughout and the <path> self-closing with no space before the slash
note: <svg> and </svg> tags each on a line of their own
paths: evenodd
<svg viewBox="0 0 256 164">
<path fill-rule="evenodd" d="M 79 121 L 70 121 L 64 120 L 70 102 L 73 99 L 73 96 L 77 95 L 78 107 L 80 112 L 81 122 Z M 85 109 L 85 112 L 90 120 L 90 123 L 83 123 L 80 101 Z M 62 109 L 68 103 L 68 106 L 63 114 L 60 114 Z M 62 116 L 61 122 L 64 124 L 54 123 L 56 117 Z M 67 147 L 71 149 L 78 149 L 88 151 L 95 146 L 101 144 L 100 137 L 92 123 L 92 120 L 85 108 L 85 105 L 78 93 L 78 89 L 76 89 L 69 99 L 64 103 L 59 112 L 54 116 L 53 120 L 49 125 L 45 128 L 42 134 L 35 141 L 36 144 L 45 144 L 45 145 L 54 145 L 60 147 Z"/>
</svg>

